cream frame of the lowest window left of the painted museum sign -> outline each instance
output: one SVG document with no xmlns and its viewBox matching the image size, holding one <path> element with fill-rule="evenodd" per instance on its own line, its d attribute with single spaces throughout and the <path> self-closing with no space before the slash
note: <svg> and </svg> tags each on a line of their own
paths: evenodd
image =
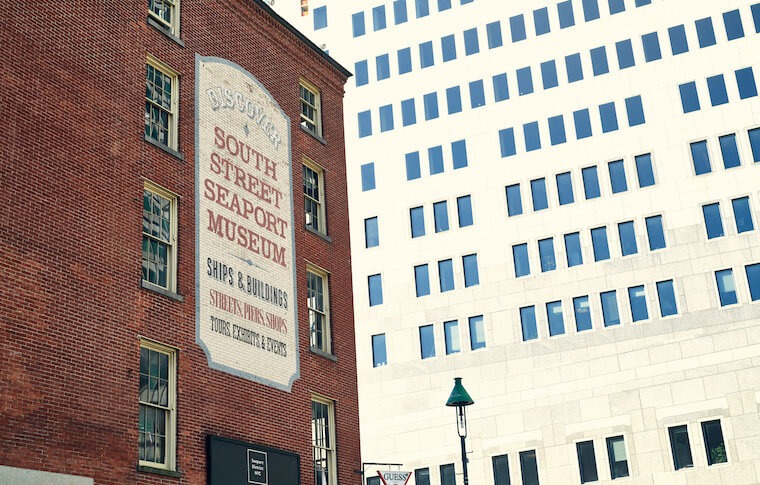
<svg viewBox="0 0 760 485">
<path fill-rule="evenodd" d="M 139 408 L 142 409 L 143 406 L 150 407 L 150 408 L 160 408 L 163 409 L 165 414 L 165 460 L 164 462 L 158 462 L 158 461 L 149 461 L 149 460 L 143 460 L 139 457 L 139 446 L 138 446 L 138 461 L 140 466 L 145 466 L 149 468 L 160 468 L 164 470 L 176 470 L 176 450 L 177 450 L 177 352 L 178 350 L 173 347 L 168 347 L 166 345 L 159 344 L 157 342 L 154 342 L 152 340 L 147 340 L 144 338 L 140 339 L 140 353 L 142 353 L 143 349 L 148 349 L 153 352 L 158 352 L 161 354 L 165 354 L 168 356 L 168 384 L 167 384 L 167 390 L 168 390 L 168 396 L 167 396 L 167 405 L 166 406 L 159 406 L 150 402 L 142 401 L 140 393 L 138 392 L 138 403 Z M 140 369 L 140 375 L 142 374 L 142 369 Z M 142 431 L 139 429 L 138 426 L 138 436 Z"/>
</svg>

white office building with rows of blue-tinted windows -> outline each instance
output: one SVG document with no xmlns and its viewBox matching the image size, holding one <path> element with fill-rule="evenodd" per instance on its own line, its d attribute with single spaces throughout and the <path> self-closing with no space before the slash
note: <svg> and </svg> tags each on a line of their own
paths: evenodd
<svg viewBox="0 0 760 485">
<path fill-rule="evenodd" d="M 368 475 L 462 483 L 462 377 L 472 484 L 760 483 L 760 3 L 277 2 L 355 74 Z"/>
</svg>

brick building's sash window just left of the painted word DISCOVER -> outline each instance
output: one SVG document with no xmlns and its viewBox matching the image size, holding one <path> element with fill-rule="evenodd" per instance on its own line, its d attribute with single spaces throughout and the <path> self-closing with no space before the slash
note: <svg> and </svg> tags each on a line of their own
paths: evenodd
<svg viewBox="0 0 760 485">
<path fill-rule="evenodd" d="M 152 56 L 145 64 L 145 139 L 177 149 L 179 75 Z"/>
</svg>

